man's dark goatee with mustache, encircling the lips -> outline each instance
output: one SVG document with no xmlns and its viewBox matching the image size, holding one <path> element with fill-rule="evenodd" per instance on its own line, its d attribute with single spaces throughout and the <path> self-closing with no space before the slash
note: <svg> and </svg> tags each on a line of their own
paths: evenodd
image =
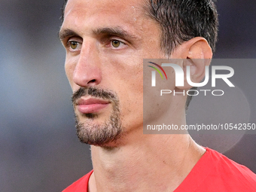
<svg viewBox="0 0 256 192">
<path fill-rule="evenodd" d="M 120 120 L 120 106 L 116 94 L 108 90 L 99 88 L 83 88 L 81 87 L 72 96 L 72 102 L 75 109 L 75 102 L 81 96 L 93 96 L 99 99 L 108 99 L 111 101 L 112 110 L 109 118 L 103 123 L 95 123 L 98 118 L 97 114 L 82 114 L 81 117 L 86 122 L 82 123 L 78 114 L 75 114 L 75 126 L 78 139 L 82 143 L 107 147 L 109 144 L 117 142 L 123 135 L 123 127 Z"/>
</svg>

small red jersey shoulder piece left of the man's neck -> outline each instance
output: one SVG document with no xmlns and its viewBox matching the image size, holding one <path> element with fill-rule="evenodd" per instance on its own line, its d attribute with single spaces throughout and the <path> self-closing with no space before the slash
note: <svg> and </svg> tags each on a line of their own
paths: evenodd
<svg viewBox="0 0 256 192">
<path fill-rule="evenodd" d="M 73 184 L 69 185 L 62 192 L 87 192 L 88 182 L 90 175 L 92 175 L 93 170 L 88 172 L 87 175 L 84 175 L 82 178 L 79 178 L 78 181 L 75 181 Z"/>
</svg>

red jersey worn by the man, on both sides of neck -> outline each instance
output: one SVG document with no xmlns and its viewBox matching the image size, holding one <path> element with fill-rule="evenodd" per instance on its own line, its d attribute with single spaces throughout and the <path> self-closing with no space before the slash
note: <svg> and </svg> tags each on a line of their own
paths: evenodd
<svg viewBox="0 0 256 192">
<path fill-rule="evenodd" d="M 93 171 L 75 181 L 62 192 L 87 192 Z M 245 166 L 228 159 L 223 154 L 206 148 L 197 162 L 174 192 L 255 192 L 256 175 Z"/>
</svg>

